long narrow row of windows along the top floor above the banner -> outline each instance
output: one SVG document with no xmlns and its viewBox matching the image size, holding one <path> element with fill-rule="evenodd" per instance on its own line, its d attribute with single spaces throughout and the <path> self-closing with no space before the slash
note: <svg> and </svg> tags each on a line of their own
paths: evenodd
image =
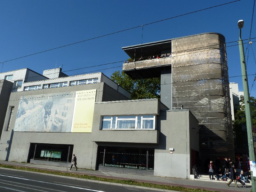
<svg viewBox="0 0 256 192">
<path fill-rule="evenodd" d="M 70 81 L 69 86 L 93 84 L 93 83 L 98 83 L 98 78 Z M 56 87 L 67 87 L 67 86 L 68 86 L 68 82 L 60 82 L 60 83 L 44 84 L 43 89 L 56 88 Z M 33 85 L 33 86 L 24 87 L 24 91 L 38 90 L 38 89 L 42 89 L 41 85 Z"/>
</svg>

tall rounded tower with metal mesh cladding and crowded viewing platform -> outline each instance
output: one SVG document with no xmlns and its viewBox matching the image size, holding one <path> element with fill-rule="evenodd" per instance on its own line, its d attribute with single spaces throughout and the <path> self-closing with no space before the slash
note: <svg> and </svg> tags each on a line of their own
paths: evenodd
<svg viewBox="0 0 256 192">
<path fill-rule="evenodd" d="M 169 109 L 183 106 L 199 121 L 202 167 L 209 159 L 234 159 L 223 35 L 203 33 L 122 49 L 133 60 L 123 65 L 127 75 L 133 79 L 161 77 L 161 102 Z"/>
</svg>

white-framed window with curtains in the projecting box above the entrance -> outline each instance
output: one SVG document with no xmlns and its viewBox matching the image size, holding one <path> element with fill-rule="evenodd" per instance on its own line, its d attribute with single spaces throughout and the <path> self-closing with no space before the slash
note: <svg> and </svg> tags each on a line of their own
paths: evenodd
<svg viewBox="0 0 256 192">
<path fill-rule="evenodd" d="M 102 129 L 156 129 L 155 115 L 103 116 Z"/>
</svg>

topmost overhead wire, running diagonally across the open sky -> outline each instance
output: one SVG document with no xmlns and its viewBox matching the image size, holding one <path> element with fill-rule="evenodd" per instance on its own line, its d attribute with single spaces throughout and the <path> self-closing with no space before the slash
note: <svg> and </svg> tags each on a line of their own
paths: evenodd
<svg viewBox="0 0 256 192">
<path fill-rule="evenodd" d="M 85 42 L 85 41 L 90 41 L 90 40 L 97 39 L 97 38 L 100 38 L 100 37 L 109 36 L 109 35 L 113 35 L 113 34 L 116 34 L 116 33 L 128 31 L 128 30 L 131 30 L 131 29 L 139 28 L 139 27 L 141 27 L 141 26 L 151 25 L 151 24 L 154 24 L 154 23 L 162 22 L 162 21 L 165 21 L 165 20 L 170 20 L 170 19 L 177 18 L 177 17 L 181 17 L 181 16 L 184 16 L 184 15 L 188 15 L 188 14 L 192 14 L 192 13 L 204 11 L 204 10 L 207 10 L 207 9 L 212 9 L 212 8 L 219 7 L 219 6 L 222 6 L 222 5 L 235 3 L 235 2 L 237 2 L 237 1 L 241 1 L 241 0 L 236 0 L 236 1 L 228 2 L 228 3 L 224 3 L 224 4 L 220 4 L 220 5 L 215 5 L 215 6 L 212 6 L 212 7 L 208 7 L 208 8 L 205 8 L 205 9 L 201 9 L 201 10 L 197 10 L 197 11 L 193 11 L 193 12 L 189 12 L 189 13 L 184 13 L 184 14 L 181 14 L 181 15 L 177 15 L 177 16 L 174 16 L 174 17 L 167 18 L 167 19 L 158 20 L 158 21 L 154 21 L 154 22 L 151 22 L 151 23 L 143 24 L 143 25 L 140 25 L 140 26 L 136 26 L 136 27 L 132 27 L 132 28 L 123 29 L 123 30 L 116 31 L 116 32 L 113 32 L 113 33 L 108 33 L 108 34 L 105 34 L 105 35 L 102 35 L 102 36 L 97 36 L 97 37 L 85 39 L 85 40 L 83 40 L 83 41 L 78 41 L 78 42 L 75 42 L 75 43 L 66 44 L 66 45 L 63 45 L 63 46 L 60 46 L 60 47 L 55 47 L 55 48 L 48 49 L 48 50 L 45 50 L 45 51 L 32 53 L 32 54 L 29 54 L 29 55 L 25 55 L 25 56 L 22 56 L 22 57 L 17 57 L 17 58 L 15 58 L 15 59 L 6 60 L 6 61 L 3 61 L 3 62 L 9 62 L 9 61 L 13 61 L 13 60 L 25 58 L 25 57 L 28 57 L 28 56 L 36 55 L 36 54 L 39 54 L 39 53 L 44 53 L 44 52 L 52 51 L 52 50 L 55 50 L 55 49 L 60 49 L 60 48 L 63 48 L 63 47 L 67 47 L 67 46 L 70 46 L 70 45 L 83 43 L 83 42 Z M 3 63 L 3 62 L 2 62 L 2 63 Z"/>
</svg>

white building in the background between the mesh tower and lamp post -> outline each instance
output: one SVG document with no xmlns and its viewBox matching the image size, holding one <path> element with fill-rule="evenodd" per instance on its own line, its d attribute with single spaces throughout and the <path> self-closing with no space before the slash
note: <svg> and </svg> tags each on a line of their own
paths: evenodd
<svg viewBox="0 0 256 192">
<path fill-rule="evenodd" d="M 232 120 L 235 120 L 235 112 L 239 106 L 239 98 L 241 95 L 244 95 L 244 92 L 238 90 L 237 83 L 229 83 L 229 93 L 230 93 Z"/>
</svg>

